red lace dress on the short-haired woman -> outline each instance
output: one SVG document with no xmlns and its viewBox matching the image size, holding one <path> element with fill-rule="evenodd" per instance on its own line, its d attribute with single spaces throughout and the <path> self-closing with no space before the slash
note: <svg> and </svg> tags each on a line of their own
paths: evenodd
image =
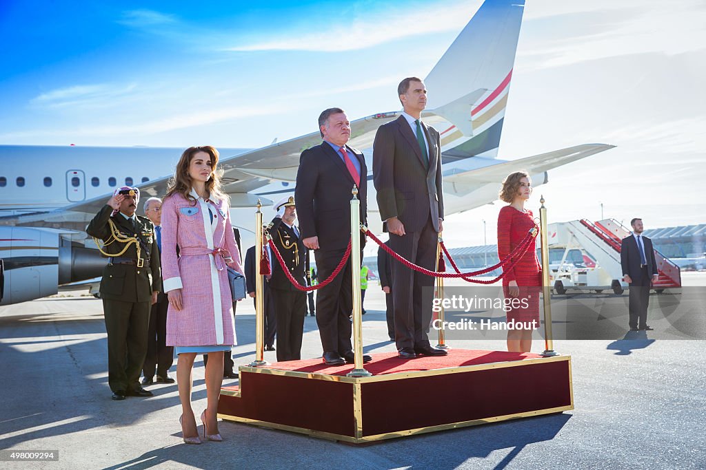
<svg viewBox="0 0 706 470">
<path fill-rule="evenodd" d="M 532 211 L 525 209 L 520 212 L 513 206 L 505 206 L 500 209 L 498 215 L 498 256 L 505 259 L 510 252 L 520 244 L 530 228 L 534 227 L 534 216 Z M 524 256 L 517 261 L 513 268 L 503 267 L 503 293 L 505 299 L 510 299 L 508 294 L 508 284 L 511 280 L 517 281 L 520 287 L 520 306 L 507 311 L 508 321 L 532 321 L 539 324 L 539 292 L 542 290 L 542 268 L 537 259 L 536 238 L 530 243 L 530 247 Z M 517 304 L 517 302 L 515 302 Z M 525 305 L 527 307 L 525 307 Z"/>
</svg>

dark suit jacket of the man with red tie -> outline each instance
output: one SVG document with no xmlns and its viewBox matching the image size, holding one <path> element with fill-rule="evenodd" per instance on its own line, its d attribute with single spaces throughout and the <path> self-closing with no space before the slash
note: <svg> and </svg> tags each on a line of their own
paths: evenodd
<svg viewBox="0 0 706 470">
<path fill-rule="evenodd" d="M 360 163 L 360 221 L 367 223 L 368 167 L 363 154 L 346 146 L 349 156 Z M 301 152 L 297 189 L 297 218 L 302 238 L 318 236 L 321 250 L 346 249 L 350 238 L 350 202 L 353 197 L 353 177 L 340 155 L 327 143 Z M 361 247 L 365 236 L 361 233 Z"/>
</svg>

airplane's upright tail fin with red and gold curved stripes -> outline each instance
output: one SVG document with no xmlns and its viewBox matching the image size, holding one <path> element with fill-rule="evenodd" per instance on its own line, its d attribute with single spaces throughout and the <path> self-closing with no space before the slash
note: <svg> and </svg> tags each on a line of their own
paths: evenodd
<svg viewBox="0 0 706 470">
<path fill-rule="evenodd" d="M 430 111 L 477 141 L 466 156 L 497 156 L 524 7 L 525 0 L 484 1 L 424 80 Z M 467 109 L 471 126 L 458 125 L 458 113 L 444 115 L 444 106 L 479 89 L 485 92 Z"/>
</svg>

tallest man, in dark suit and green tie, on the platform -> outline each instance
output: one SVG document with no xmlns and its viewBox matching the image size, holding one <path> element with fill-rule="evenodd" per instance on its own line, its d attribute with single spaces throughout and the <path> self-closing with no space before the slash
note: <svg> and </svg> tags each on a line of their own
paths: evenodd
<svg viewBox="0 0 706 470">
<path fill-rule="evenodd" d="M 390 248 L 412 263 L 434 269 L 436 242 L 442 230 L 441 142 L 439 133 L 421 122 L 426 87 L 405 78 L 397 87 L 402 116 L 381 125 L 373 142 L 373 182 L 383 229 Z M 393 263 L 393 302 L 397 354 L 405 359 L 443 356 L 429 344 L 434 279 Z"/>
</svg>

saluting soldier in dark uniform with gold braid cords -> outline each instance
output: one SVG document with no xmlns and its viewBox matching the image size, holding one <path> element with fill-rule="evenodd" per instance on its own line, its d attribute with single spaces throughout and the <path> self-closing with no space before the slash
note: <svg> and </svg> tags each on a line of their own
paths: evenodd
<svg viewBox="0 0 706 470">
<path fill-rule="evenodd" d="M 100 251 L 108 256 L 100 297 L 113 400 L 152 396 L 138 379 L 147 353 L 150 306 L 162 290 L 162 276 L 154 225 L 135 215 L 139 201 L 138 188 L 120 187 L 86 228 L 88 235 L 103 240 Z"/>
</svg>

